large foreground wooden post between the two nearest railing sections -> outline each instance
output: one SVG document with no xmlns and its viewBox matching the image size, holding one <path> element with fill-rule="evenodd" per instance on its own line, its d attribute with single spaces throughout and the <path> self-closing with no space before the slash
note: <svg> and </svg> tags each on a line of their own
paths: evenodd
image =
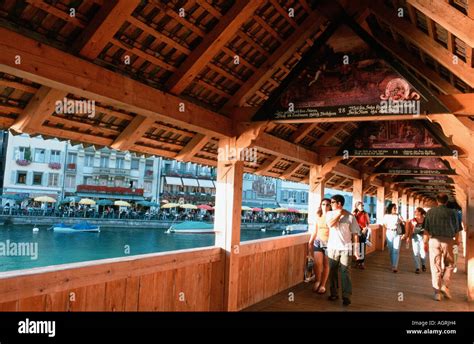
<svg viewBox="0 0 474 344">
<path fill-rule="evenodd" d="M 236 138 L 219 140 L 220 152 L 232 152 L 235 148 Z M 237 310 L 243 173 L 243 161 L 235 156 L 219 155 L 214 227 L 215 244 L 225 252 L 223 305 L 228 311 Z"/>
</svg>

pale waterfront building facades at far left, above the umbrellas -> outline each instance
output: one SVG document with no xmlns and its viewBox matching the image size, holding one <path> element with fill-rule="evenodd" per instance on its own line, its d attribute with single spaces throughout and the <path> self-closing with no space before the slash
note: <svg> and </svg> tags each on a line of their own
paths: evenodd
<svg viewBox="0 0 474 344">
<path fill-rule="evenodd" d="M 158 201 L 160 164 L 156 157 L 9 134 L 3 193 Z"/>
</svg>

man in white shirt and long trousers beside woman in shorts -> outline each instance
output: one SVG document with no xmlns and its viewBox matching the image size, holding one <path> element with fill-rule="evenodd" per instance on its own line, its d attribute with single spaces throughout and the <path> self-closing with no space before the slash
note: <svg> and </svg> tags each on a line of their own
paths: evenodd
<svg viewBox="0 0 474 344">
<path fill-rule="evenodd" d="M 353 244 L 358 244 L 359 225 L 350 212 L 343 209 L 344 197 L 334 195 L 331 197 L 332 210 L 326 214 L 326 223 L 329 227 L 327 255 L 329 259 L 329 283 L 331 295 L 329 300 L 338 299 L 338 278 L 341 270 L 342 304 L 351 304 L 352 281 L 351 260 Z M 356 259 L 359 253 L 355 252 Z"/>
</svg>

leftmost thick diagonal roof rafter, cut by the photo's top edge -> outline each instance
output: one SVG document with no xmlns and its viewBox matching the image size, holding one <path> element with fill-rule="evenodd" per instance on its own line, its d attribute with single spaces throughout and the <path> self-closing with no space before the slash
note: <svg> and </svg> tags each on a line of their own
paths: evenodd
<svg viewBox="0 0 474 344">
<path fill-rule="evenodd" d="M 97 58 L 139 4 L 140 0 L 107 1 L 76 39 L 73 49 L 91 60 Z"/>
</svg>

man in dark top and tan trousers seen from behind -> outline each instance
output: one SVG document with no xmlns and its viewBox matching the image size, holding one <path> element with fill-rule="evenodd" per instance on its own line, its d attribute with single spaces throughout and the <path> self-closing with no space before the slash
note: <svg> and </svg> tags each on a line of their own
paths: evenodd
<svg viewBox="0 0 474 344">
<path fill-rule="evenodd" d="M 428 235 L 425 244 L 429 246 L 433 298 L 441 301 L 441 294 L 451 299 L 449 282 L 454 270 L 453 246 L 458 245 L 461 226 L 456 211 L 446 207 L 448 196 L 439 194 L 436 201 L 438 206 L 426 213 L 425 231 Z"/>
</svg>

